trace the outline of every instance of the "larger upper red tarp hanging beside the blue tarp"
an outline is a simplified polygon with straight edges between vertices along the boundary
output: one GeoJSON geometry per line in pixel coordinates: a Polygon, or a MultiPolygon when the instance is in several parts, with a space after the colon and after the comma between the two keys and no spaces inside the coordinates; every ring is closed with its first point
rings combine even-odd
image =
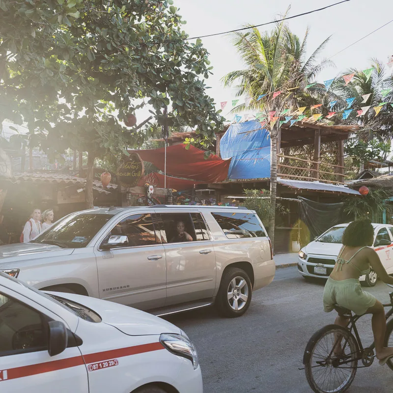
{"type": "MultiPolygon", "coordinates": [[[[159,149],[129,150],[140,155],[143,161],[154,164],[164,172],[164,147],[159,149]]],[[[224,181],[228,176],[230,160],[222,160],[215,154],[207,160],[204,151],[183,143],[167,147],[167,174],[195,179],[205,183],[224,181]]]]}

